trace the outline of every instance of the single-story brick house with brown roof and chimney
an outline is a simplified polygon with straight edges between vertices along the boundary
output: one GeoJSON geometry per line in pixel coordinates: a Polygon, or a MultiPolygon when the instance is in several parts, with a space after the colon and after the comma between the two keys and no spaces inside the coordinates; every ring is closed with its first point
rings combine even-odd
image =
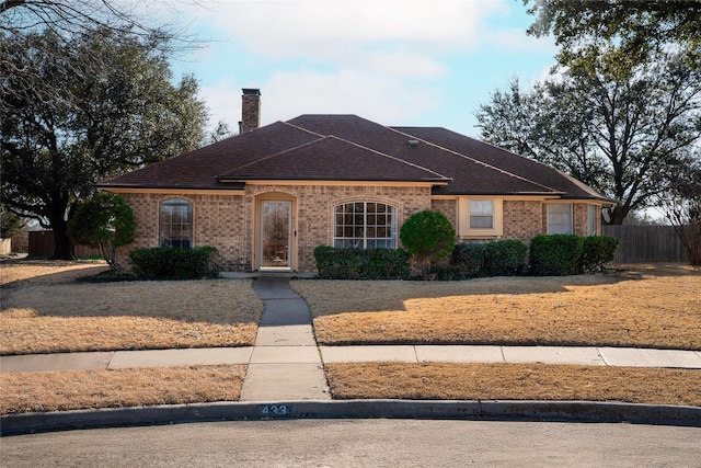
{"type": "MultiPolygon", "coordinates": [[[[241,133],[99,184],[137,219],[140,247],[219,251],[222,271],[314,272],[318,246],[400,247],[411,215],[438,210],[457,240],[600,233],[612,201],[540,162],[439,127],[300,115],[260,127],[244,89],[241,133]]],[[[126,251],[120,252],[124,255],[126,251]]]]}

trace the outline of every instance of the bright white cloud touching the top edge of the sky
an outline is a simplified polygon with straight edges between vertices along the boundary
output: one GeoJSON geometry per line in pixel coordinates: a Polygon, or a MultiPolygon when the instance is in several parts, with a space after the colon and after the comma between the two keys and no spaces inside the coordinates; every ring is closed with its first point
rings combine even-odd
{"type": "MultiPolygon", "coordinates": [[[[476,46],[480,21],[502,1],[205,2],[218,30],[269,58],[337,62],[354,50],[404,44],[426,52],[476,46]]],[[[203,13],[199,13],[200,16],[203,13]]]]}

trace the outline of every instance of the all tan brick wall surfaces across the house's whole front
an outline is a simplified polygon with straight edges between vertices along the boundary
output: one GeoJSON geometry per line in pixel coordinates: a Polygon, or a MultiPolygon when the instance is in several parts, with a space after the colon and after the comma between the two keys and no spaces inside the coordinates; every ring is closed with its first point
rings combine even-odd
{"type": "MultiPolygon", "coordinates": [[[[279,197],[294,203],[297,231],[297,270],[315,271],[314,249],[333,242],[334,206],[348,202],[380,202],[397,207],[398,236],[402,224],[414,213],[434,209],[457,226],[457,202],[430,199],[429,187],[350,186],[350,185],[249,185],[245,195],[124,194],[134,209],[137,226],[135,242],[119,249],[118,260],[127,265],[127,252],[134,248],[158,247],[159,205],[168,198],[184,198],[193,204],[193,243],[218,249],[223,271],[250,271],[255,249],[255,210],[261,196],[279,197]]],[[[541,202],[504,201],[504,239],[526,243],[547,232],[545,207],[541,202]]],[[[597,212],[598,213],[598,212],[597,212]]],[[[574,205],[575,233],[587,232],[587,208],[574,205]]],[[[599,228],[597,224],[597,228],[599,228]]],[[[127,265],[128,266],[128,265],[127,265]]]]}

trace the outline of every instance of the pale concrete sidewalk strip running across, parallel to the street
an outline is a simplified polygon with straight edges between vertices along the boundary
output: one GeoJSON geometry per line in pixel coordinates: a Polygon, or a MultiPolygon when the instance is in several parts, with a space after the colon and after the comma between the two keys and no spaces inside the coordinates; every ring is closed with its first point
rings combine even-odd
{"type": "Polygon", "coordinates": [[[215,364],[542,363],[701,369],[701,352],[632,347],[558,346],[319,346],[258,345],[186,350],[111,351],[0,356],[0,372],[88,370],[215,364]]]}

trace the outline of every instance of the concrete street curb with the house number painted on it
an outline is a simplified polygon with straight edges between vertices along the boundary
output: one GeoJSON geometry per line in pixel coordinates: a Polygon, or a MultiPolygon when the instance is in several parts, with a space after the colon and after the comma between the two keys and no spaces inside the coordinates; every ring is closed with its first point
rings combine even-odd
{"type": "Polygon", "coordinates": [[[278,419],[455,419],[701,427],[701,407],[597,401],[342,400],[220,402],[9,414],[0,435],[79,429],[278,419]]]}

